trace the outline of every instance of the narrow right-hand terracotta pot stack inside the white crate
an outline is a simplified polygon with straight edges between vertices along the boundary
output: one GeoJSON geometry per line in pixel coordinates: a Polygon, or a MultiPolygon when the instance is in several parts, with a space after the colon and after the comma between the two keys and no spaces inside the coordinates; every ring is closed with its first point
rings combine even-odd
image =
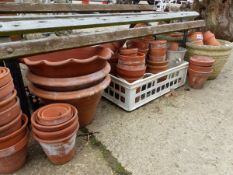
{"type": "Polygon", "coordinates": [[[166,52],[166,40],[154,40],[150,42],[149,57],[147,59],[147,72],[157,74],[168,69],[166,52]]]}

